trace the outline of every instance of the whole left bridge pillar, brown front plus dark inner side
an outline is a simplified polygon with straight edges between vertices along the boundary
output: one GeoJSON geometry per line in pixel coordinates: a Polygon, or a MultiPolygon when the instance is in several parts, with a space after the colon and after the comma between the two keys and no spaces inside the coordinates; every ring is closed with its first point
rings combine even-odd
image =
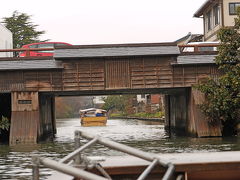
{"type": "Polygon", "coordinates": [[[37,143],[53,137],[54,97],[38,92],[12,92],[10,144],[37,143]]]}

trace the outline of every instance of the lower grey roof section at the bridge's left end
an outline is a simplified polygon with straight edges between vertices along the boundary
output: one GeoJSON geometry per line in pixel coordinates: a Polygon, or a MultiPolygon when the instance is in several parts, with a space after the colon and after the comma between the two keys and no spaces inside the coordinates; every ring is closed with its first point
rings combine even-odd
{"type": "Polygon", "coordinates": [[[59,62],[54,60],[18,60],[18,61],[0,61],[0,71],[6,70],[47,70],[62,69],[59,62]]]}

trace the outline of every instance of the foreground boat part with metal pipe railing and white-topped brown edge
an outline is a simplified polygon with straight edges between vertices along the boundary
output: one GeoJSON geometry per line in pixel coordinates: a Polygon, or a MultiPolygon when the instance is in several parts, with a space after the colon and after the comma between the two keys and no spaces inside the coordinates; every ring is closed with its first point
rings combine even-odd
{"type": "Polygon", "coordinates": [[[208,152],[152,154],[132,147],[93,136],[83,131],[75,132],[78,148],[60,161],[35,158],[33,179],[39,180],[39,166],[44,165],[58,172],[49,179],[88,180],[239,180],[240,152],[208,152]],[[80,136],[90,139],[79,147],[80,136]],[[89,158],[81,156],[86,148],[98,143],[131,156],[89,158]],[[71,160],[74,163],[70,165],[71,160]],[[69,163],[70,162],[70,163],[69,163]],[[66,164],[67,163],[67,164],[66,164]],[[62,173],[67,174],[63,175],[62,173]],[[61,178],[59,178],[61,177],[61,178]]]}

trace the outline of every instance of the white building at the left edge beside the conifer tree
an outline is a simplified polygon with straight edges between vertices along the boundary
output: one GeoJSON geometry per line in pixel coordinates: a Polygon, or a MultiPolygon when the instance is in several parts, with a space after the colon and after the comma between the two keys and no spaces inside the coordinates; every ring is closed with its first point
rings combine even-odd
{"type": "MultiPolygon", "coordinates": [[[[0,49],[12,49],[13,38],[12,33],[0,23],[0,49]]],[[[0,52],[0,57],[12,57],[11,52],[0,52]]]]}

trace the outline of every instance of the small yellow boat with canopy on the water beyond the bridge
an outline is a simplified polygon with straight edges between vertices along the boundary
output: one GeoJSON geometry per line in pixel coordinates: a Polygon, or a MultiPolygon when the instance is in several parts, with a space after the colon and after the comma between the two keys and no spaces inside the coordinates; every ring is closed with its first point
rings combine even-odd
{"type": "Polygon", "coordinates": [[[103,109],[89,108],[79,111],[82,126],[106,126],[107,111],[103,109]]]}

